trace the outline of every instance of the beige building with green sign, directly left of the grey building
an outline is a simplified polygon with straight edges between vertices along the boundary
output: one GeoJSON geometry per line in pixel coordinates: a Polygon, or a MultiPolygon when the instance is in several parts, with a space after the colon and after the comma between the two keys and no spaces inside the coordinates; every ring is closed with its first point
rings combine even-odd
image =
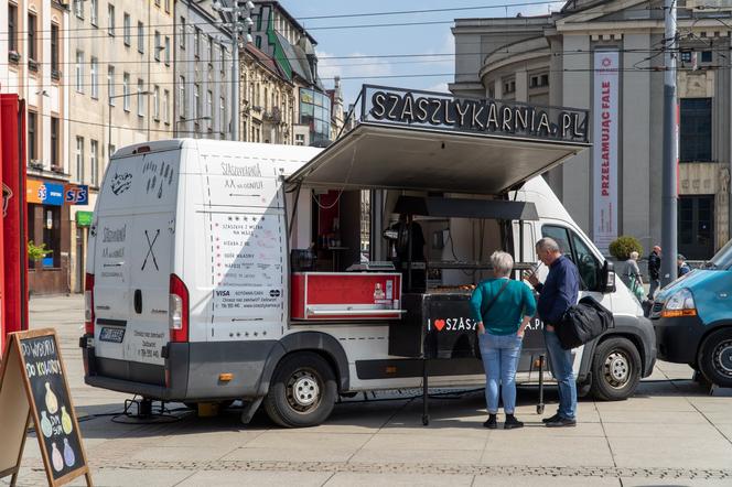
{"type": "Polygon", "coordinates": [[[173,133],[173,0],[72,0],[71,181],[88,205],[69,206],[69,290],[82,292],[89,212],[111,154],[173,133]]]}

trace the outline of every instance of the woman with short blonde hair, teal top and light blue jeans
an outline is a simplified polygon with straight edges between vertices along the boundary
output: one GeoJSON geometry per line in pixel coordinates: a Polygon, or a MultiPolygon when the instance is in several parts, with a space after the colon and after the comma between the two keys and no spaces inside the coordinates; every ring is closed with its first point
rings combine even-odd
{"type": "Polygon", "coordinates": [[[485,369],[485,401],[488,420],[485,428],[498,428],[498,386],[506,413],[505,430],[524,426],[514,415],[516,408],[516,367],[521,351],[524,329],[536,313],[536,301],[528,285],[508,278],[514,259],[502,251],[491,256],[493,279],[481,282],[471,297],[477,322],[478,343],[485,369]]]}

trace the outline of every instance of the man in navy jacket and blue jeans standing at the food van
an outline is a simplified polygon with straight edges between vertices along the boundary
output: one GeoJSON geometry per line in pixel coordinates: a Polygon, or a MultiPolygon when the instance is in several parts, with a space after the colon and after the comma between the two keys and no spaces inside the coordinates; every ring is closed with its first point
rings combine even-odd
{"type": "Polygon", "coordinates": [[[580,291],[580,273],[577,266],[564,257],[557,241],[542,238],[536,244],[539,260],[549,268],[549,275],[543,284],[536,273],[527,280],[539,292],[537,311],[543,322],[543,339],[551,370],[559,385],[559,409],[557,414],[547,418],[548,428],[568,428],[577,425],[577,382],[572,372],[572,353],[564,350],[559,343],[555,327],[561,323],[562,315],[577,304],[580,291]]]}

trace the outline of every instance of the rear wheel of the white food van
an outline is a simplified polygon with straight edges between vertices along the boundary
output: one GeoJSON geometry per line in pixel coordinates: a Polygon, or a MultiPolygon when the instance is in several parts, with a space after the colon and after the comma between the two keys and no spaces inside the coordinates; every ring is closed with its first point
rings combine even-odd
{"type": "Polygon", "coordinates": [[[277,366],[265,410],[280,426],[315,426],[331,415],[337,394],[330,364],[315,353],[302,351],[277,366]]]}

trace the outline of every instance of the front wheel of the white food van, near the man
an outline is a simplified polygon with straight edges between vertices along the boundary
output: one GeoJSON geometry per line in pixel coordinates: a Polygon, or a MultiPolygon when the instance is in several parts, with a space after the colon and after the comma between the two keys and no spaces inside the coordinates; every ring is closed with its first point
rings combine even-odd
{"type": "Polygon", "coordinates": [[[603,401],[622,401],[640,381],[640,354],[633,342],[611,337],[598,345],[592,358],[592,396],[603,401]]]}

